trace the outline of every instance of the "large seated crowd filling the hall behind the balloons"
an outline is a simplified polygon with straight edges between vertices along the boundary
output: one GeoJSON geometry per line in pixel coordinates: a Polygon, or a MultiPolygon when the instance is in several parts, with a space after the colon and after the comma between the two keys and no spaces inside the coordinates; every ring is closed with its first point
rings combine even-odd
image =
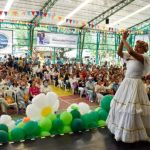
{"type": "MultiPolygon", "coordinates": [[[[25,109],[32,98],[40,93],[51,91],[50,84],[72,90],[90,102],[100,102],[104,95],[114,95],[124,78],[125,65],[103,66],[85,64],[47,65],[31,58],[5,56],[0,65],[1,98],[5,91],[13,91],[19,109],[25,109]]],[[[150,80],[143,78],[150,98],[150,80]]],[[[5,108],[5,107],[4,107],[5,108]]]]}

